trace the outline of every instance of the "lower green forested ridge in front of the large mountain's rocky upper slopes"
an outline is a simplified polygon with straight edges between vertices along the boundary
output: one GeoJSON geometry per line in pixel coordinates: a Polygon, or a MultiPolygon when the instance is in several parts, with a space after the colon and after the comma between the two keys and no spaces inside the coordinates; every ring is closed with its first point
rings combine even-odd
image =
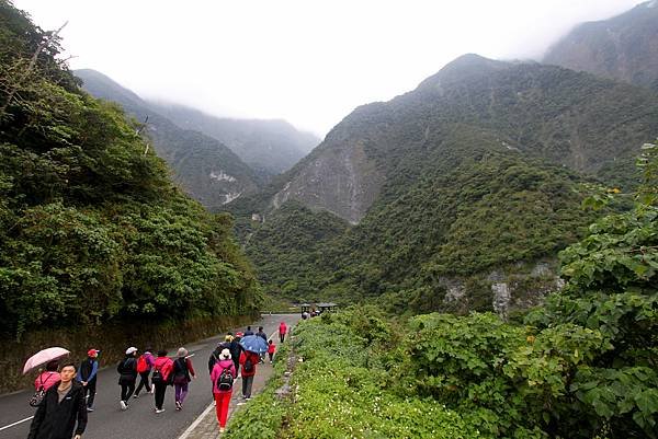
{"type": "MultiPolygon", "coordinates": [[[[404,309],[445,311],[442,279],[473,284],[481,273],[554,257],[594,218],[579,209],[586,180],[507,151],[486,132],[455,127],[441,151],[416,182],[387,186],[358,226],[295,203],[250,224],[241,234],[259,279],[291,300],[394,294],[404,309]],[[419,294],[427,300],[415,307],[419,294]]],[[[485,300],[468,289],[472,310],[491,309],[490,284],[485,300]]]]}

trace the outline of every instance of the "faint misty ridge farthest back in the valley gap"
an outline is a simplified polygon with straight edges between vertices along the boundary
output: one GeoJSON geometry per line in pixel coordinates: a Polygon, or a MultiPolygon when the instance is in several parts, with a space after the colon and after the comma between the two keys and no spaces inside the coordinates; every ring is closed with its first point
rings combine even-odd
{"type": "Polygon", "coordinates": [[[219,140],[262,177],[287,171],[320,142],[285,120],[222,118],[155,101],[149,105],[179,127],[219,140]]]}

